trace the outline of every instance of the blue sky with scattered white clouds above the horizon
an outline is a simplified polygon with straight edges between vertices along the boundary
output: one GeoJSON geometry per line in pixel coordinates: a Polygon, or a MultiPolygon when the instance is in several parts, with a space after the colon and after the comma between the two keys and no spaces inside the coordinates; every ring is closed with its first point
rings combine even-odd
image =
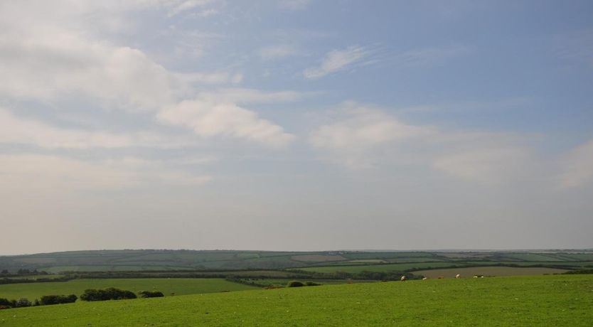
{"type": "Polygon", "coordinates": [[[0,2],[0,254],[593,247],[592,1],[0,2]]]}

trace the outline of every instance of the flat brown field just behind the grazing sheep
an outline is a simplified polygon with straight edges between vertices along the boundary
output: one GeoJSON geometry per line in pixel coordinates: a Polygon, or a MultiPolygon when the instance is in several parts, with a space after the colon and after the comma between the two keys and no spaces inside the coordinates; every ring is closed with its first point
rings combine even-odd
{"type": "Polygon", "coordinates": [[[420,270],[412,272],[416,275],[424,275],[428,278],[454,278],[456,274],[461,274],[461,277],[473,277],[475,275],[484,276],[530,276],[543,274],[561,274],[567,272],[565,269],[555,268],[539,268],[539,267],[466,267],[466,268],[449,268],[449,269],[432,269],[420,270]]]}

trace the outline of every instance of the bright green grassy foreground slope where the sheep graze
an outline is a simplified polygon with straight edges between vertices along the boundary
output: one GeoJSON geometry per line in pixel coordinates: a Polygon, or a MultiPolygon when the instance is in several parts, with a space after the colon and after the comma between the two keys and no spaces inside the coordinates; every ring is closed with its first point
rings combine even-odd
{"type": "Polygon", "coordinates": [[[343,284],[0,311],[0,326],[591,326],[593,276],[343,284]]]}

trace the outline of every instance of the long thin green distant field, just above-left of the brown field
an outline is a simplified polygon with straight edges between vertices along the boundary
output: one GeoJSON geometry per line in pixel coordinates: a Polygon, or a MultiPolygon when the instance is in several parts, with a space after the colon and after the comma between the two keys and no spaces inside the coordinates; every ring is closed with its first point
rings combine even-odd
{"type": "Polygon", "coordinates": [[[407,269],[423,269],[423,268],[438,268],[438,267],[454,267],[462,266],[456,262],[417,262],[417,263],[402,263],[402,264],[357,264],[353,266],[321,266],[321,267],[306,267],[299,268],[305,272],[403,272],[407,269]]]}

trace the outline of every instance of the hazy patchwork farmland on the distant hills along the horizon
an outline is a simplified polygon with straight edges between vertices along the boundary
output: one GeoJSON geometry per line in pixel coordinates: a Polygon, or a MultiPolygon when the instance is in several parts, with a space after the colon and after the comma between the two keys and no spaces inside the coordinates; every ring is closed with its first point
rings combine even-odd
{"type": "Polygon", "coordinates": [[[183,270],[232,271],[246,269],[302,269],[332,272],[359,271],[348,266],[365,266],[365,270],[408,270],[427,267],[460,267],[476,265],[521,265],[541,267],[593,267],[593,252],[581,251],[463,251],[463,252],[271,252],[230,250],[100,250],[55,252],[18,256],[0,256],[0,270],[37,269],[60,272],[175,272],[183,270]],[[400,265],[396,265],[400,264],[400,265]],[[385,265],[385,267],[380,267],[385,265]],[[318,269],[319,268],[319,269],[318,269]]]}

